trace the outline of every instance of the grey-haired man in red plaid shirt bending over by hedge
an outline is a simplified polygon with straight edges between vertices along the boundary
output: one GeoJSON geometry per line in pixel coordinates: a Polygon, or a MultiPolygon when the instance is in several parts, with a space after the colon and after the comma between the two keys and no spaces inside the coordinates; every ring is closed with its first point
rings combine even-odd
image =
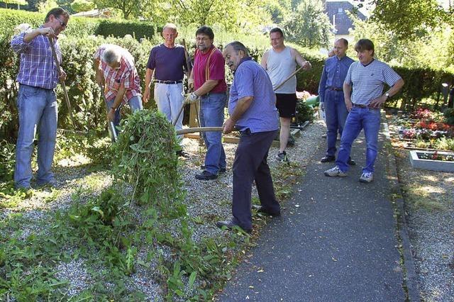
{"type": "Polygon", "coordinates": [[[107,118],[114,121],[114,125],[119,125],[123,104],[128,103],[133,112],[143,108],[134,58],[128,50],[110,44],[101,45],[93,58],[96,82],[104,86],[109,108],[107,118]]]}

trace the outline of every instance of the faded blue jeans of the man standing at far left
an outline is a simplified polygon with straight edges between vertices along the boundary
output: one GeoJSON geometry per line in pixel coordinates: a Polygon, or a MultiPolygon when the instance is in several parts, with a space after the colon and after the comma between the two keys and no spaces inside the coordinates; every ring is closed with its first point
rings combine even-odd
{"type": "Polygon", "coordinates": [[[53,89],[19,85],[17,97],[19,133],[16,143],[16,187],[30,187],[33,139],[38,131],[38,185],[54,181],[52,162],[57,137],[57,98],[53,89]]]}

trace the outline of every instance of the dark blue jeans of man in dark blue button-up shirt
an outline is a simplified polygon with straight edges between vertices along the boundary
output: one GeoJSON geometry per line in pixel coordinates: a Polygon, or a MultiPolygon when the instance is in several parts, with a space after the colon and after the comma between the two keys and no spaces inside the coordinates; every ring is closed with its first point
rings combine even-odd
{"type": "Polygon", "coordinates": [[[348,110],[343,99],[343,91],[325,91],[326,116],[326,156],[336,155],[336,140],[338,131],[342,136],[343,126],[347,120],[348,110]]]}

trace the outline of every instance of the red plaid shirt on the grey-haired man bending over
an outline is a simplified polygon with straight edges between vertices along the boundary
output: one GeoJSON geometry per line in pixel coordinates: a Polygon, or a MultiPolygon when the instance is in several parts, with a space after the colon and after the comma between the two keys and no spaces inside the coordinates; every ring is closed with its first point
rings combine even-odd
{"type": "Polygon", "coordinates": [[[104,94],[106,95],[106,100],[111,101],[111,99],[115,99],[121,84],[124,84],[126,88],[125,95],[123,96],[123,104],[127,103],[133,96],[141,96],[140,79],[137,69],[134,66],[133,56],[128,50],[121,48],[123,53],[121,54],[120,67],[112,69],[102,60],[104,50],[106,50],[107,46],[109,45],[101,45],[93,56],[95,60],[100,61],[101,69],[104,73],[104,79],[106,80],[104,94]]]}

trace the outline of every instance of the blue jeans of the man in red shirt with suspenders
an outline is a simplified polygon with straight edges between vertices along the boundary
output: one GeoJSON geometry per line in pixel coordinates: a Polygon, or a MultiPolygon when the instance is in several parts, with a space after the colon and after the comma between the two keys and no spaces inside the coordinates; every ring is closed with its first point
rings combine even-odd
{"type": "MultiPolygon", "coordinates": [[[[224,123],[226,94],[206,94],[200,98],[200,125],[202,127],[221,127],[224,123]]],[[[226,152],[222,145],[222,133],[210,131],[202,133],[206,145],[205,170],[218,174],[226,167],[226,152]]]]}

